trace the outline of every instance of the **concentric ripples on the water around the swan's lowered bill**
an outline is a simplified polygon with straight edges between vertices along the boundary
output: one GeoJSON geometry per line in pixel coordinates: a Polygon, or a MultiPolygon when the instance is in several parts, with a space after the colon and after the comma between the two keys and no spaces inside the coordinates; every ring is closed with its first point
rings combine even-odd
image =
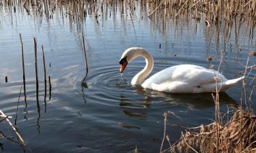
{"type": "Polygon", "coordinates": [[[103,105],[132,108],[147,107],[147,93],[143,88],[131,86],[130,80],[139,67],[129,67],[125,74],[119,73],[119,67],[106,65],[97,67],[87,78],[87,99],[103,105]]]}

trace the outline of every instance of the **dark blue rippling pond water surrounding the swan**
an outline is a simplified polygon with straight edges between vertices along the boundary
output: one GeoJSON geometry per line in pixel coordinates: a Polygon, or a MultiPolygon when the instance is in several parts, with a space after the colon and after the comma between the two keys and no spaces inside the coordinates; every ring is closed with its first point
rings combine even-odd
{"type": "MultiPolygon", "coordinates": [[[[224,35],[223,31],[220,30],[220,35],[224,35]]],[[[232,31],[236,31],[235,27],[232,31]]],[[[136,11],[99,16],[97,21],[91,14],[78,24],[61,16],[58,10],[49,19],[33,13],[10,12],[8,7],[2,7],[0,108],[13,117],[12,122],[17,112],[16,124],[28,144],[22,148],[8,139],[0,139],[2,152],[134,152],[136,146],[140,152],[159,152],[164,112],[175,114],[168,118],[171,124],[208,124],[215,118],[212,95],[169,94],[131,86],[132,77],[143,69],[145,62],[138,58],[120,74],[122,52],[132,46],[145,48],[154,57],[152,73],[156,73],[180,64],[217,67],[223,50],[221,71],[227,78],[236,78],[246,65],[248,52],[255,50],[255,39],[249,37],[246,27],[240,29],[239,39],[232,31],[229,42],[224,43],[222,37],[211,38],[214,25],[206,27],[203,21],[193,19],[166,22],[164,29],[159,22],[141,18],[140,11],[136,11]],[[19,99],[23,84],[19,33],[25,51],[26,101],[23,88],[19,99]],[[89,69],[83,83],[86,72],[82,33],[89,69]],[[38,42],[38,101],[33,37],[38,42]],[[51,77],[51,92],[47,83],[46,103],[41,45],[47,79],[51,77]],[[212,56],[212,63],[206,60],[207,56],[212,56]]],[[[249,65],[253,63],[255,58],[250,59],[249,65]]],[[[248,76],[248,81],[253,75],[255,72],[248,76]]],[[[238,84],[221,94],[223,112],[238,107],[241,88],[238,84]]],[[[256,106],[253,104],[253,107],[256,106]]],[[[13,136],[8,124],[0,126],[2,133],[13,136]]],[[[181,131],[184,129],[167,127],[172,143],[179,139],[181,131]]]]}

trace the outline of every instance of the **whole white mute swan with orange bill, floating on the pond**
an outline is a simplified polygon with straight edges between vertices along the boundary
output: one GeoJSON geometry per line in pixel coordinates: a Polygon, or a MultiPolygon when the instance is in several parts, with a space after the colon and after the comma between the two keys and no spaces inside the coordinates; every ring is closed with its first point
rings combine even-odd
{"type": "Polygon", "coordinates": [[[176,65],[168,67],[145,80],[152,72],[154,60],[143,48],[128,48],[124,51],[119,61],[120,73],[124,71],[128,63],[139,56],[145,58],[146,65],[142,71],[132,78],[131,84],[141,85],[143,88],[173,93],[215,92],[216,80],[214,78],[218,76],[217,86],[223,92],[242,80],[242,77],[227,80],[221,73],[197,65],[176,65]]]}

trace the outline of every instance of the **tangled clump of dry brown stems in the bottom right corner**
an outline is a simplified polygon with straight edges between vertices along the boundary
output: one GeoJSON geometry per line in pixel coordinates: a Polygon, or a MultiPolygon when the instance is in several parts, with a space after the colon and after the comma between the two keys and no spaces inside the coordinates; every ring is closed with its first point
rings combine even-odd
{"type": "Polygon", "coordinates": [[[255,123],[256,116],[253,116],[252,112],[241,112],[239,109],[225,125],[214,122],[186,131],[173,148],[176,148],[177,152],[216,152],[218,143],[218,152],[253,152],[256,150],[255,123]],[[217,131],[219,139],[216,139],[217,131]]]}

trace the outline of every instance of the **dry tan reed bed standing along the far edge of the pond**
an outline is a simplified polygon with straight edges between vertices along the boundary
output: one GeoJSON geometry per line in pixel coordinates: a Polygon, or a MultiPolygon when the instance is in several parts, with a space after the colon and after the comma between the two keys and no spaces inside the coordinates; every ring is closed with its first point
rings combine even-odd
{"type": "Polygon", "coordinates": [[[130,14],[137,9],[140,10],[142,18],[164,21],[186,14],[197,20],[205,18],[208,25],[223,21],[231,24],[237,17],[240,20],[249,18],[251,24],[255,24],[256,18],[256,2],[253,0],[1,0],[0,5],[10,7],[10,10],[25,10],[27,14],[33,12],[37,16],[45,15],[46,18],[53,18],[55,10],[58,10],[64,12],[62,16],[77,22],[83,21],[87,14],[94,14],[95,18],[99,18],[100,14],[102,18],[107,18],[117,11],[120,14],[130,14]]]}

